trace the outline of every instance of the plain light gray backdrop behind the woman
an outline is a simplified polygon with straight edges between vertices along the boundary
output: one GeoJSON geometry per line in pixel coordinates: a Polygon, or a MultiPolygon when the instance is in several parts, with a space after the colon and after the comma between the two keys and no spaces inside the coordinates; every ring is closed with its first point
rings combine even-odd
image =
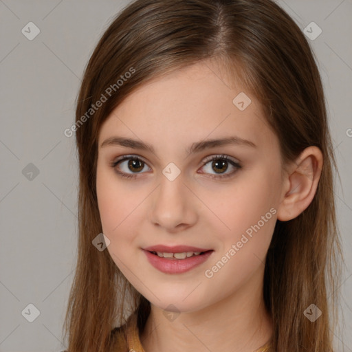
{"type": "MultiPolygon", "coordinates": [[[[61,328],[76,259],[77,165],[74,137],[63,131],[74,122],[89,55],[126,3],[0,0],[0,351],[65,347],[61,328]],[[21,32],[30,21],[41,31],[32,41],[21,32]],[[21,314],[30,303],[40,311],[32,323],[21,314]]],[[[309,41],[325,85],[340,169],[336,197],[346,256],[340,287],[345,327],[336,344],[338,351],[352,351],[352,1],[278,3],[302,30],[311,21],[322,29],[309,41]]]]}

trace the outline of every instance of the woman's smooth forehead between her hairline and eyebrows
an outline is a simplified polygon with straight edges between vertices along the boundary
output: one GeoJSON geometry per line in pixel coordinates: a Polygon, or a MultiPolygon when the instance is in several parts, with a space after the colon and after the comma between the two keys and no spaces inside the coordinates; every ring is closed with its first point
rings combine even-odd
{"type": "Polygon", "coordinates": [[[238,135],[261,144],[272,137],[261,104],[213,62],[155,78],[116,107],[100,129],[102,140],[140,138],[157,148],[238,135]]]}

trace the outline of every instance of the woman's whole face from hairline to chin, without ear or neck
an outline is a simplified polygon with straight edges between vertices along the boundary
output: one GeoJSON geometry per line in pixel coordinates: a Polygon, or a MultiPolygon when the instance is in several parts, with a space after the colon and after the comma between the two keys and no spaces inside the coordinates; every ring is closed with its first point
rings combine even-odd
{"type": "Polygon", "coordinates": [[[96,186],[107,250],[152,305],[195,311],[260,285],[281,154],[259,102],[216,63],[157,78],[109,115],[96,186]]]}

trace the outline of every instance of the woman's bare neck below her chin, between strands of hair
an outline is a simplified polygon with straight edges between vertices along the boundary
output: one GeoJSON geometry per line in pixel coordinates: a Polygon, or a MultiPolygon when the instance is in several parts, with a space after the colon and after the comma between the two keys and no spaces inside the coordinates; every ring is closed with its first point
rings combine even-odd
{"type": "Polygon", "coordinates": [[[170,351],[170,347],[174,352],[256,351],[272,337],[272,319],[265,309],[262,288],[263,282],[258,285],[254,279],[232,296],[173,318],[151,305],[140,334],[144,351],[170,351]]]}

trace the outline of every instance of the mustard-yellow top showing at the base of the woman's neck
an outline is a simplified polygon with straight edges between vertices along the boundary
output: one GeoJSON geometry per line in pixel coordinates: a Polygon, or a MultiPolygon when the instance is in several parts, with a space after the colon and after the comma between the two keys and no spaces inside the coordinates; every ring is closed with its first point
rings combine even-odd
{"type": "MultiPolygon", "coordinates": [[[[140,342],[137,328],[137,315],[132,314],[126,325],[112,331],[114,337],[114,351],[116,352],[145,352],[140,342]]],[[[254,352],[271,352],[271,344],[267,343],[254,352]]]]}

